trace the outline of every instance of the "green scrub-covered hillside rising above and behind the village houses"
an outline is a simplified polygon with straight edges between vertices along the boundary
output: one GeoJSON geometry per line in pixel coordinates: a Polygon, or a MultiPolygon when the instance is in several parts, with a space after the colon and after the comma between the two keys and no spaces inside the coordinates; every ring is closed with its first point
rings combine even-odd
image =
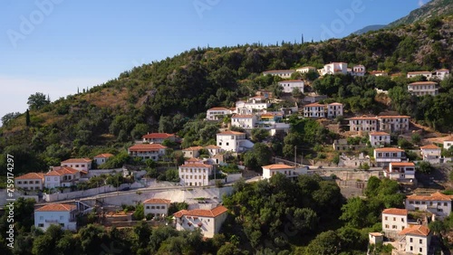
{"type": "MultiPolygon", "coordinates": [[[[188,119],[203,118],[203,113],[215,106],[232,107],[237,99],[252,95],[255,90],[277,91],[276,80],[261,74],[266,70],[304,65],[321,68],[331,61],[345,61],[350,66],[363,64],[368,71],[390,73],[451,70],[452,28],[453,19],[447,17],[327,42],[192,49],[124,71],[117,79],[91,90],[31,109],[28,127],[25,114],[12,115],[0,128],[0,152],[2,156],[14,153],[21,164],[17,171],[26,172],[59,164],[70,156],[123,151],[130,141],[150,131],[200,136],[197,131],[181,130],[188,119]]],[[[390,108],[410,114],[424,125],[444,132],[452,130],[453,120],[448,116],[453,114],[439,110],[453,109],[448,93],[422,101],[404,92],[409,82],[406,79],[326,80],[323,86],[335,86],[328,94],[344,103],[350,114],[376,114],[390,108]],[[394,86],[403,95],[396,94],[398,100],[390,107],[374,99],[374,87],[389,90],[394,86]],[[431,112],[412,109],[419,104],[431,112]]]]}

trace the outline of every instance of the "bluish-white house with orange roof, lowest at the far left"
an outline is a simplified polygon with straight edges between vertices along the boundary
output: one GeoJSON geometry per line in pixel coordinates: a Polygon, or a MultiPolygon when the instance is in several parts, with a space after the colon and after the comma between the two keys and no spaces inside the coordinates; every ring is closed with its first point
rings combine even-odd
{"type": "Polygon", "coordinates": [[[34,210],[34,226],[45,231],[51,225],[60,225],[63,230],[75,231],[77,206],[67,203],[50,203],[34,210]]]}

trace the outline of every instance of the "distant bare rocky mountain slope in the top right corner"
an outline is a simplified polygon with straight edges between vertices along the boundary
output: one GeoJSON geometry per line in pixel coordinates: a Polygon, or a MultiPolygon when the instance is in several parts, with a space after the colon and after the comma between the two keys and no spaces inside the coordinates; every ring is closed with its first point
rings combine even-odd
{"type": "Polygon", "coordinates": [[[427,4],[413,10],[407,16],[404,16],[389,24],[389,27],[400,24],[414,24],[425,21],[429,18],[453,14],[453,1],[451,0],[431,0],[427,4]]]}

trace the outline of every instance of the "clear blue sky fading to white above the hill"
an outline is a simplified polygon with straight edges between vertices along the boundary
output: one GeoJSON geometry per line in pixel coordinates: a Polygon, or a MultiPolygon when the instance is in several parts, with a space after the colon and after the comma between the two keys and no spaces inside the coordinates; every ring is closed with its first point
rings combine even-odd
{"type": "Polygon", "coordinates": [[[2,0],[0,118],[198,46],[342,38],[427,0],[2,0]]]}

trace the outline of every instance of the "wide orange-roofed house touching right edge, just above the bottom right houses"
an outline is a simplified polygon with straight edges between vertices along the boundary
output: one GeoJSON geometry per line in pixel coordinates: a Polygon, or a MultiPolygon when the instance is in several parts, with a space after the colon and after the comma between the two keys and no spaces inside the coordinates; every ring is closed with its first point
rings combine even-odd
{"type": "Polygon", "coordinates": [[[412,194],[406,198],[406,209],[409,211],[427,211],[440,218],[451,213],[451,196],[441,194],[412,194]]]}

